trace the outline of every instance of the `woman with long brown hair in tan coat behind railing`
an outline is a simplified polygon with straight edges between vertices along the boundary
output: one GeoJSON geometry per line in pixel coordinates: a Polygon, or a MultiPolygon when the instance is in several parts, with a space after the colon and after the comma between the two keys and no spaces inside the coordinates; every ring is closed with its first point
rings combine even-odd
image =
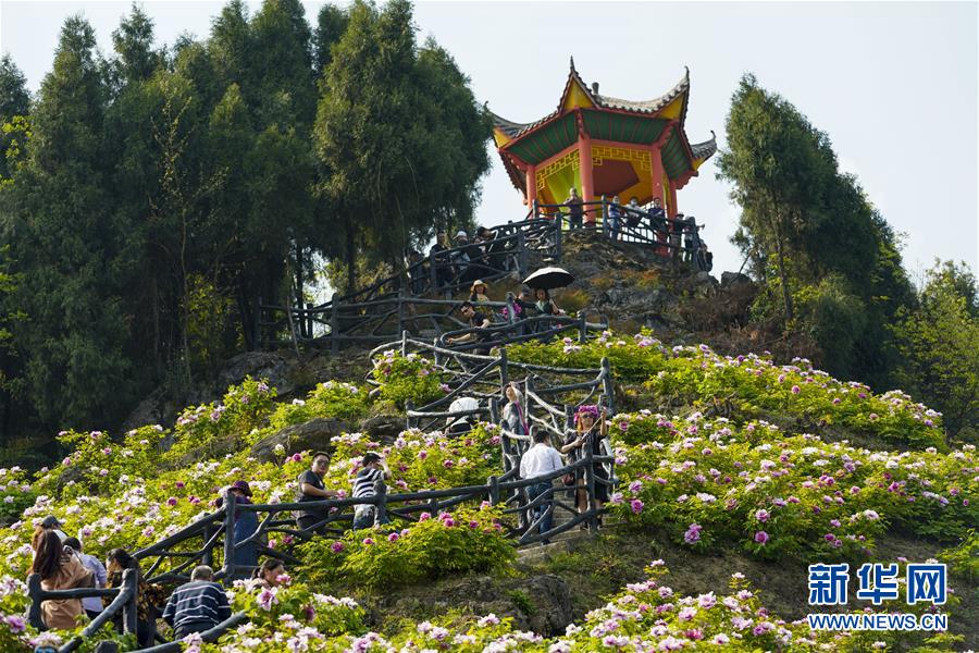
{"type": "MultiPolygon", "coordinates": [[[[53,530],[45,531],[40,537],[30,572],[40,575],[41,589],[49,592],[94,587],[95,574],[71,549],[64,547],[53,530]]],[[[52,630],[72,630],[83,614],[82,602],[77,599],[48,599],[41,603],[41,619],[52,630]]]]}

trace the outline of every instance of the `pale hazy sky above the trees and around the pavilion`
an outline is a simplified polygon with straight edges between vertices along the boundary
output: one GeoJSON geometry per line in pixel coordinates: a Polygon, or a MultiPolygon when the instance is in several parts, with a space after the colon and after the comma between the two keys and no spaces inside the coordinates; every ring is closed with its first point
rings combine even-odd
{"type": "MultiPolygon", "coordinates": [[[[206,37],[222,3],[146,1],[160,42],[206,37]]],[[[315,22],[322,2],[305,2],[315,22]]],[[[255,11],[259,3],[250,3],[255,11]]],[[[103,52],[129,2],[0,0],[0,51],[36,90],[63,20],[82,13],[103,52]]],[[[419,41],[432,36],[469,75],[480,102],[515,122],[553,111],[574,58],[603,95],[645,100],[690,67],[686,133],[723,148],[731,95],[745,73],[826,132],[843,171],[903,234],[919,282],[935,258],[979,274],[979,3],[972,2],[433,2],[416,5],[419,41]]],[[[728,238],[739,209],[714,160],[680,190],[681,211],[706,223],[715,274],[743,258],[728,238]]],[[[480,224],[525,213],[496,152],[480,224]]]]}

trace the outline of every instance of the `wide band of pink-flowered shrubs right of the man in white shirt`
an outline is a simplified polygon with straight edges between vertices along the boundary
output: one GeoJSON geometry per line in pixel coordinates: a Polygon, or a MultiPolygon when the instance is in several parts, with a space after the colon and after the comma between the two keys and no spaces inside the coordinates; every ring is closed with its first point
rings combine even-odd
{"type": "Polygon", "coordinates": [[[724,418],[614,418],[611,509],[695,549],[741,542],[760,557],[867,554],[888,523],[954,540],[979,522],[975,447],[869,452],[724,418]]]}

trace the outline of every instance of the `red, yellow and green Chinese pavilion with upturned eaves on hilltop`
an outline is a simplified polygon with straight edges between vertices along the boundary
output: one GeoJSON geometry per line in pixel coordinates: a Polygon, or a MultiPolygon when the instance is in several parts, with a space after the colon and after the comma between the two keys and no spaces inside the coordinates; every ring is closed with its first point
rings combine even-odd
{"type": "Polygon", "coordinates": [[[669,215],[677,190],[717,151],[711,137],[691,144],[684,131],[690,71],[655,100],[620,100],[588,87],[574,70],[557,110],[519,124],[493,114],[493,135],[504,167],[528,206],[561,204],[574,186],[585,201],[619,195],[645,205],[658,197],[669,215]]]}

